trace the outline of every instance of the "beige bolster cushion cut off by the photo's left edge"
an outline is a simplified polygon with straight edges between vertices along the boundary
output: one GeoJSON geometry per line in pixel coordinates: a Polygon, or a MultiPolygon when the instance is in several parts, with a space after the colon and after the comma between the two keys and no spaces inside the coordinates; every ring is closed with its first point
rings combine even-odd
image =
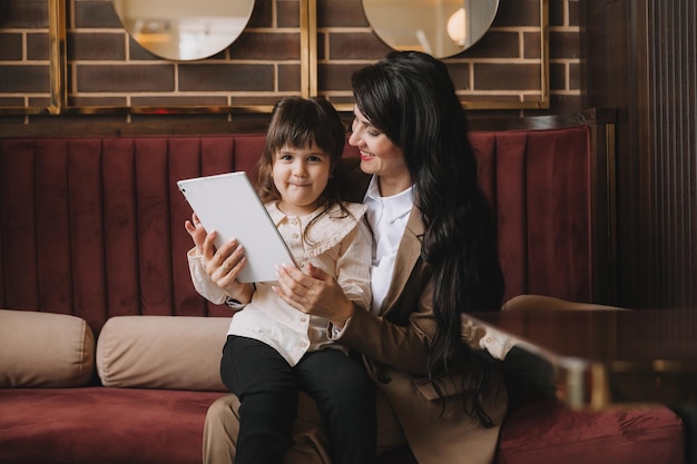
{"type": "Polygon", "coordinates": [[[76,316],[0,309],[0,387],[73,387],[95,373],[95,335],[76,316]]]}

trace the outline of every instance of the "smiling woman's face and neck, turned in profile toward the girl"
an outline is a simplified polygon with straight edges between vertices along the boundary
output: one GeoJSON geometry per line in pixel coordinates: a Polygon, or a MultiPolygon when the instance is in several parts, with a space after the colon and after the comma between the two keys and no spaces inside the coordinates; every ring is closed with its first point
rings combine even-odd
{"type": "Polygon", "coordinates": [[[411,175],[404,161],[404,151],[373,127],[357,107],[348,144],[361,151],[361,170],[379,177],[380,194],[389,197],[411,186],[411,175]]]}

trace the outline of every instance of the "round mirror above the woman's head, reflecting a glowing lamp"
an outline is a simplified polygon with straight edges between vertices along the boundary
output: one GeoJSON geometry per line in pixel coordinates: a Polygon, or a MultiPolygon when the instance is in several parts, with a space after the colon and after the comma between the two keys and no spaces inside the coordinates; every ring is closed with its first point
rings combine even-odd
{"type": "Polygon", "coordinates": [[[458,55],[489,30],[499,0],[363,0],[375,33],[395,50],[458,55]]]}

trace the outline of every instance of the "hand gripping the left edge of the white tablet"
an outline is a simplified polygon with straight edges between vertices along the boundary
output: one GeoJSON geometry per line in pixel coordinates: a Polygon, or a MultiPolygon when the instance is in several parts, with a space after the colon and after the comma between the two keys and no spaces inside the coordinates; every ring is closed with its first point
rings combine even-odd
{"type": "Polygon", "coordinates": [[[247,257],[242,245],[233,238],[229,243],[215,249],[215,230],[207,234],[200,245],[204,269],[210,279],[230,298],[246,304],[252,300],[254,286],[237,280],[239,273],[247,264],[247,257]]]}

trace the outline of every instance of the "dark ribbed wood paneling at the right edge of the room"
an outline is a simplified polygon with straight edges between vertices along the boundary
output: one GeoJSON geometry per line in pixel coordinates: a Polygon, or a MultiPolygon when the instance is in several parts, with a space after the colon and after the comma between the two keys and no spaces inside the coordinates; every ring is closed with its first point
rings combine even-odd
{"type": "Polygon", "coordinates": [[[694,0],[586,0],[586,106],[618,108],[619,303],[697,305],[694,0]]]}

